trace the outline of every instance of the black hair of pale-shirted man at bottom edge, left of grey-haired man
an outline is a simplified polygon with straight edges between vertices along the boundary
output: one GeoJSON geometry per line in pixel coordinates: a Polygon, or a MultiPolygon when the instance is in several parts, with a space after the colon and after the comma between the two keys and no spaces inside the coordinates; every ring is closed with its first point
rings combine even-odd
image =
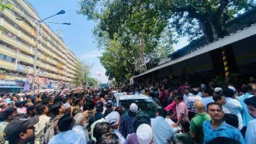
{"type": "Polygon", "coordinates": [[[66,132],[70,130],[72,124],[72,117],[70,113],[67,113],[66,115],[63,115],[60,120],[58,120],[58,129],[60,132],[66,132]]]}

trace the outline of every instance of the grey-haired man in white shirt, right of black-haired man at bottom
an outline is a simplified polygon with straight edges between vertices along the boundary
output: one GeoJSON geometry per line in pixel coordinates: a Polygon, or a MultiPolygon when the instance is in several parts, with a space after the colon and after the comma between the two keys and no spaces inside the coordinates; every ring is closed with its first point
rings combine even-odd
{"type": "Polygon", "coordinates": [[[88,126],[88,123],[85,122],[85,117],[83,116],[83,113],[77,113],[74,119],[75,119],[75,125],[72,128],[72,130],[77,132],[77,134],[81,135],[81,137],[83,137],[83,139],[87,143],[90,140],[85,130],[85,128],[88,126]]]}

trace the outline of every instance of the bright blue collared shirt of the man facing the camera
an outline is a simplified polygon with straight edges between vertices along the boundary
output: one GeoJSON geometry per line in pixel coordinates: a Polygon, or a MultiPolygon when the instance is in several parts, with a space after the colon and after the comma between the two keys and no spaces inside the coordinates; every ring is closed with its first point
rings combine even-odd
{"type": "Polygon", "coordinates": [[[221,126],[213,130],[211,126],[211,120],[207,120],[203,122],[203,134],[204,134],[204,142],[208,143],[209,141],[213,140],[215,137],[228,137],[232,139],[236,139],[240,141],[240,143],[245,144],[244,137],[242,136],[241,132],[223,122],[221,126]]]}

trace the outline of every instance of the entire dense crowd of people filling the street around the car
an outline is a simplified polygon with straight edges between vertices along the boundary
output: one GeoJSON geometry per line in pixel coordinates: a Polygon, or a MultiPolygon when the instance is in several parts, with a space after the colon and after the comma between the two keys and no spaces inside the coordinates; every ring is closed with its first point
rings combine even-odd
{"type": "Polygon", "coordinates": [[[115,88],[1,94],[0,143],[253,144],[256,84],[238,89],[188,82],[125,88],[160,105],[153,118],[138,115],[136,103],[114,107],[115,88]]]}

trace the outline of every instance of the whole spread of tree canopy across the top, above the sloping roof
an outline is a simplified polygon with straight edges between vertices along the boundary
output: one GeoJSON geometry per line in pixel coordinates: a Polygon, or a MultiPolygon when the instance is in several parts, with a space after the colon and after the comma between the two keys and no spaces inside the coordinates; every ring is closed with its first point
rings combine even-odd
{"type": "Polygon", "coordinates": [[[94,35],[105,50],[100,62],[117,81],[129,79],[137,65],[167,56],[177,42],[173,30],[191,41],[202,35],[214,41],[227,34],[228,22],[255,9],[254,0],[81,0],[79,5],[77,12],[97,23],[94,35]]]}

